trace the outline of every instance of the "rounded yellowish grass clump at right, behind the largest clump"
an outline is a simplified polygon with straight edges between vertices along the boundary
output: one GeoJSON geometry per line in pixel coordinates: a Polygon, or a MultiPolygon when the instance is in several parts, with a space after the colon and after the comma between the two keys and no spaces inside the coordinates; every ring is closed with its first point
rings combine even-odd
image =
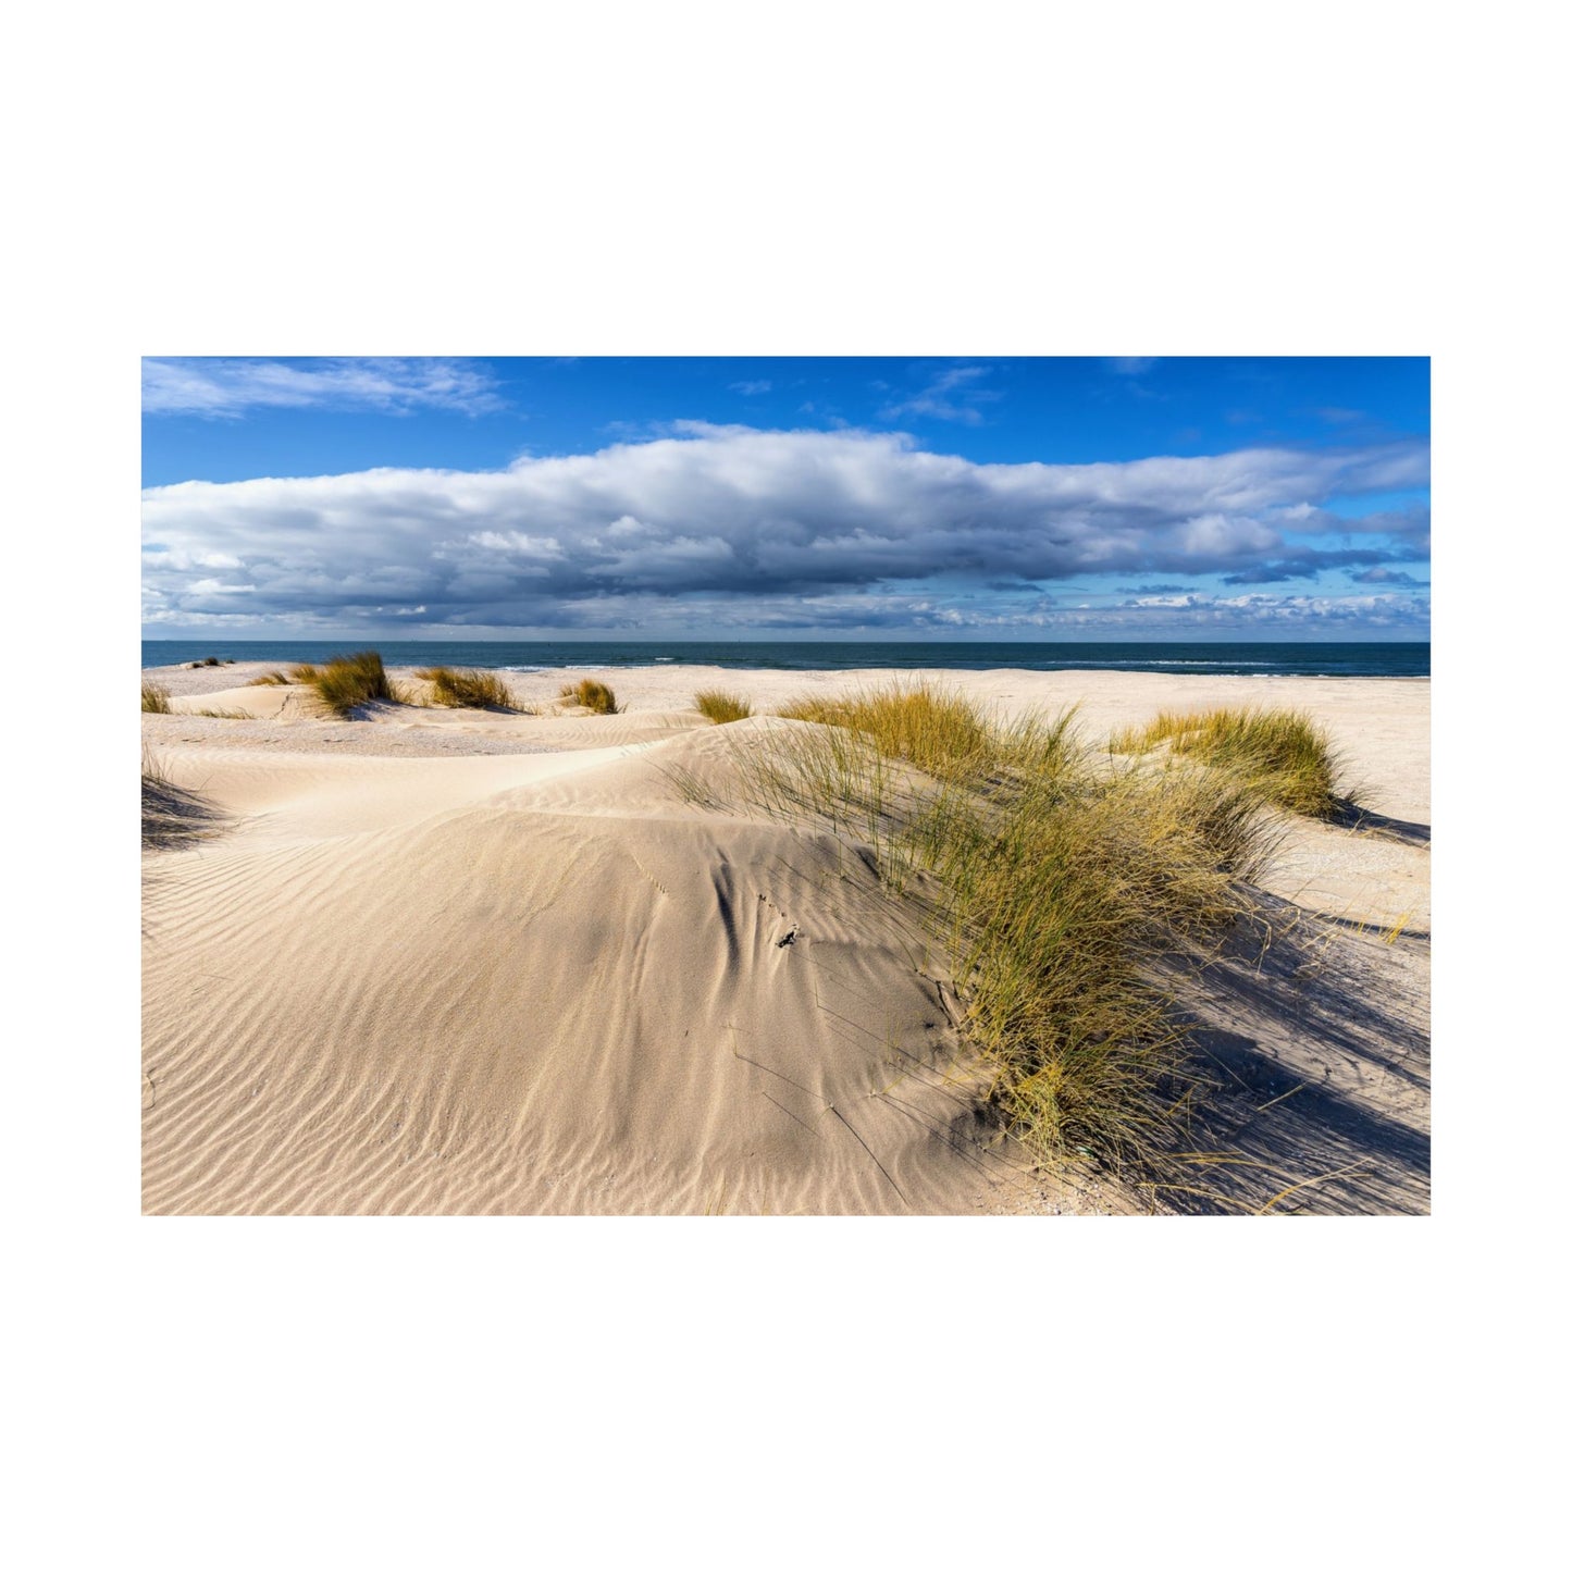
{"type": "Polygon", "coordinates": [[[1160,711],[1108,742],[1115,753],[1149,753],[1168,744],[1174,755],[1229,770],[1278,808],[1330,819],[1347,803],[1339,794],[1342,764],[1324,726],[1303,711],[1223,707],[1174,714],[1160,711]]]}

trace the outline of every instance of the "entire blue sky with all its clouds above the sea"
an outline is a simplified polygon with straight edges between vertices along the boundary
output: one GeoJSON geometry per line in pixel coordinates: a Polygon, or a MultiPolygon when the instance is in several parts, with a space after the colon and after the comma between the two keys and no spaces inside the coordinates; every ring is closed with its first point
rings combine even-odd
{"type": "Polygon", "coordinates": [[[143,362],[146,637],[1427,638],[1429,363],[143,362]]]}

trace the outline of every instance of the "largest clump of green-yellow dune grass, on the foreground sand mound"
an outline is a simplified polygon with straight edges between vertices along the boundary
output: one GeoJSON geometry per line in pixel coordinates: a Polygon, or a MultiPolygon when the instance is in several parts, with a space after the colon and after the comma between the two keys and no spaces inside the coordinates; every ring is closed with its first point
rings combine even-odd
{"type": "Polygon", "coordinates": [[[1174,976],[1251,907],[1261,791],[1110,767],[1069,712],[1000,725],[923,684],[784,714],[817,725],[736,751],[748,805],[830,828],[912,896],[1008,1127],[1044,1159],[1155,1154],[1188,1056],[1174,976]]]}

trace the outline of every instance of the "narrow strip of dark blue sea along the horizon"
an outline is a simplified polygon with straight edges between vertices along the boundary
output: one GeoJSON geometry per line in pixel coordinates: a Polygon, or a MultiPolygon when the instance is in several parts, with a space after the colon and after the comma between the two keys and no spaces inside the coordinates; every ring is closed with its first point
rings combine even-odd
{"type": "Polygon", "coordinates": [[[192,640],[148,638],[141,665],[219,660],[321,662],[374,646],[390,667],[490,667],[498,671],[593,671],[604,667],[695,665],[737,671],[1195,671],[1212,676],[1427,678],[1429,643],[890,643],[817,640],[711,643],[701,640],[192,640]]]}

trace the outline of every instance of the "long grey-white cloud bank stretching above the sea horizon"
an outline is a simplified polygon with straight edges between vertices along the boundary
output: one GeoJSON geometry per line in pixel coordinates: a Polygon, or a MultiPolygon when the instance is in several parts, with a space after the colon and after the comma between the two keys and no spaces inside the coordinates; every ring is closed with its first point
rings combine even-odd
{"type": "MultiPolygon", "coordinates": [[[[986,632],[1072,626],[1080,608],[1058,586],[1086,575],[1168,590],[1176,575],[1248,586],[1357,566],[1404,585],[1379,571],[1427,552],[1424,509],[1327,506],[1424,487],[1423,442],[1050,465],[976,464],[899,434],[673,429],[497,472],[149,489],[145,621],[986,632]]],[[[1137,594],[1121,615],[1151,623],[1154,601],[1195,626],[1338,615],[1327,597],[1256,594],[1137,594]]],[[[1379,621],[1420,605],[1385,594],[1346,610],[1379,621]]]]}

